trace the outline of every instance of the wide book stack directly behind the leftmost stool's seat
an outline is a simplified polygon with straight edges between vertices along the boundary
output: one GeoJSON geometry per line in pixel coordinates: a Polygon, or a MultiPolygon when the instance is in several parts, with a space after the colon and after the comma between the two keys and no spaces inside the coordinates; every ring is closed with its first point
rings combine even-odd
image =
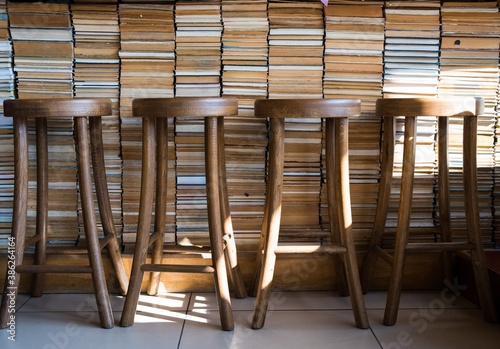
{"type": "MultiPolygon", "coordinates": [[[[9,2],[19,98],[73,96],[73,29],[68,5],[9,2]]],[[[49,120],[49,241],[74,244],[78,234],[76,164],[72,122],[49,120]]],[[[29,128],[34,134],[34,124],[29,128]]],[[[30,152],[28,230],[35,227],[36,160],[30,152]]]]}

